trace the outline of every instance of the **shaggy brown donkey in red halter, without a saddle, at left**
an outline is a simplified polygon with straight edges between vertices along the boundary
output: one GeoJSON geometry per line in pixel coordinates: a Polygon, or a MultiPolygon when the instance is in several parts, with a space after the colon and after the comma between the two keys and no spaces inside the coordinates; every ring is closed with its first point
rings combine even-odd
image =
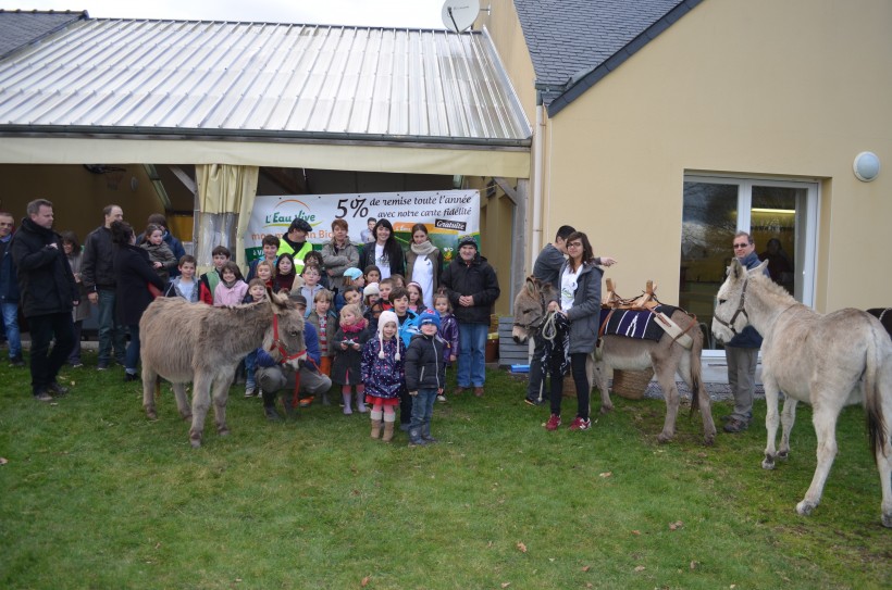
{"type": "Polygon", "coordinates": [[[296,364],[306,355],[303,316],[284,296],[271,301],[212,307],[182,298],[159,298],[139,321],[143,360],[143,406],[156,419],[154,396],[159,377],[173,384],[176,406],[185,419],[191,418],[189,441],[201,445],[205,417],[211,402],[220,435],[226,426],[226,400],[238,363],[263,346],[276,359],[296,364]],[[174,331],[173,327],[176,327],[174,331]],[[193,381],[193,403],[186,398],[186,384],[193,381]]]}

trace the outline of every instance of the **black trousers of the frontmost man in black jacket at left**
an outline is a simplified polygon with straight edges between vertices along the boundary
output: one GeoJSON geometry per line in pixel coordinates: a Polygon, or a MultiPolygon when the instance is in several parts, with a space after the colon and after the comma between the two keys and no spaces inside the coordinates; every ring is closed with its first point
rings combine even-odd
{"type": "Polygon", "coordinates": [[[35,315],[28,317],[30,325],[30,385],[34,394],[46,392],[55,381],[59,369],[65,364],[74,347],[71,312],[35,315]],[[55,344],[50,352],[50,342],[55,344]]]}

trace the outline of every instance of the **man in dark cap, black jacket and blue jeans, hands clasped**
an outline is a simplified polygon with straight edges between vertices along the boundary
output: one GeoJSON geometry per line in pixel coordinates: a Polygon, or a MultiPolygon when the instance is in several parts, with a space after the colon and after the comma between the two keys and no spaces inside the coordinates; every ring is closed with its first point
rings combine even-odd
{"type": "Polygon", "coordinates": [[[458,242],[458,259],[443,272],[441,285],[455,310],[458,322],[458,389],[473,385],[474,396],[483,396],[486,380],[486,336],[490,313],[501,292],[496,272],[478,252],[476,240],[466,236],[458,242]]]}

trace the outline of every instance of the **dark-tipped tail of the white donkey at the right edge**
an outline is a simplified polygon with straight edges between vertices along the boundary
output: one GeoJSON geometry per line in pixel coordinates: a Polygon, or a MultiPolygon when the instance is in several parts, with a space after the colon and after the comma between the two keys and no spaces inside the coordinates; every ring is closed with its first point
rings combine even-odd
{"type": "Polygon", "coordinates": [[[864,371],[864,409],[867,414],[867,436],[870,451],[879,460],[885,449],[885,416],[883,396],[892,394],[892,348],[889,336],[879,328],[870,329],[864,371]]]}

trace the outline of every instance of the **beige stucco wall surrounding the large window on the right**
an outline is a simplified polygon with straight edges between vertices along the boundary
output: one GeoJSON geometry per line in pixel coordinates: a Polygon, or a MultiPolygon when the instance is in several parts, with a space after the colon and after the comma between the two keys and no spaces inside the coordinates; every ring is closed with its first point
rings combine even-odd
{"type": "Polygon", "coordinates": [[[816,307],[892,305],[890,24],[888,0],[703,2],[549,121],[545,236],[575,225],[621,294],[676,302],[686,171],[814,178],[816,307]]]}

